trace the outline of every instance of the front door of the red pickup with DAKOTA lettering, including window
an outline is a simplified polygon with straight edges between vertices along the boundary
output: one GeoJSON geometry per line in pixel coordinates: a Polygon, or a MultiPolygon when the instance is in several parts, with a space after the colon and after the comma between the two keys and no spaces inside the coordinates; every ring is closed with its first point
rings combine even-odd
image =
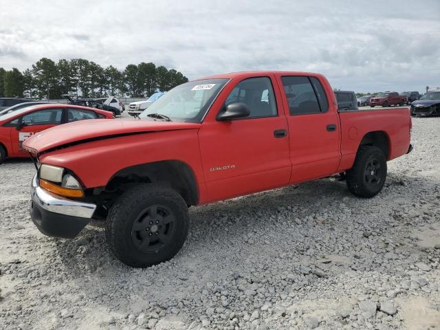
{"type": "Polygon", "coordinates": [[[241,80],[228,94],[224,106],[241,102],[250,115],[218,121],[210,111],[199,131],[208,199],[217,201],[259,192],[289,182],[287,119],[274,80],[256,76],[241,80]]]}

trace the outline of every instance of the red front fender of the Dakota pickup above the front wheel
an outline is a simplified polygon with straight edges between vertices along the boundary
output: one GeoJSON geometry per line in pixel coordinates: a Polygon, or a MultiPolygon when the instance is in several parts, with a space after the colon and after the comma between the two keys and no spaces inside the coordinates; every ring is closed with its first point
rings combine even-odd
{"type": "Polygon", "coordinates": [[[85,188],[96,188],[106,186],[123,168],[178,160],[190,166],[202,192],[205,179],[197,131],[159,131],[85,142],[43,154],[40,161],[69,168],[85,188]]]}

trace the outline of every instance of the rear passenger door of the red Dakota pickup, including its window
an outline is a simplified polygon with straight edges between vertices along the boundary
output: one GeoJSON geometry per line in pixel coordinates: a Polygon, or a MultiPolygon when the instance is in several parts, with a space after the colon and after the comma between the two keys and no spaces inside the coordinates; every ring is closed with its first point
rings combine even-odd
{"type": "Polygon", "coordinates": [[[340,162],[340,122],[335,105],[314,76],[281,76],[289,125],[290,183],[336,173],[340,162]]]}

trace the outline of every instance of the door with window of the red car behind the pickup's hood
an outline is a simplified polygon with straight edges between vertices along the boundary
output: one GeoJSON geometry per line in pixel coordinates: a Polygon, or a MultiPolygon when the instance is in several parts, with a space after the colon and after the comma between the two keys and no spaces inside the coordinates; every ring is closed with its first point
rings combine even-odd
{"type": "Polygon", "coordinates": [[[23,142],[35,133],[61,124],[62,118],[63,108],[43,109],[19,117],[16,124],[19,129],[11,129],[10,131],[14,154],[26,155],[27,151],[24,151],[22,147],[23,142]]]}

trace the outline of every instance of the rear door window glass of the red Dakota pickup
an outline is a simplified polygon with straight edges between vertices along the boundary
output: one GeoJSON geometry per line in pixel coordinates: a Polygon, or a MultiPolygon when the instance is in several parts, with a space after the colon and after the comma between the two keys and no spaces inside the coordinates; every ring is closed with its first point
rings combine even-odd
{"type": "Polygon", "coordinates": [[[320,113],[318,98],[316,98],[309,77],[284,76],[281,80],[291,115],[320,113]]]}

